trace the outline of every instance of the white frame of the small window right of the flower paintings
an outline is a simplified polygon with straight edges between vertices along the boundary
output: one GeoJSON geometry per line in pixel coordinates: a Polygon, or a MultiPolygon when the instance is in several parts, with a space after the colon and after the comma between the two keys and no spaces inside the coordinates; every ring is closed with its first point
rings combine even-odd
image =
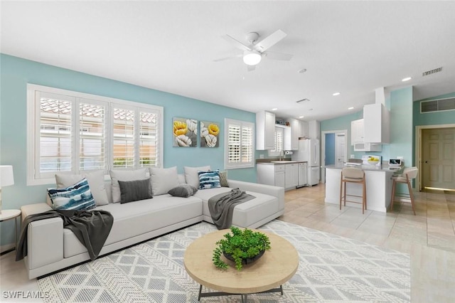
{"type": "Polygon", "coordinates": [[[247,169],[255,167],[255,123],[240,121],[236,119],[225,118],[225,169],[247,169]],[[240,159],[242,159],[242,129],[244,127],[251,128],[251,161],[240,161],[238,164],[229,162],[229,125],[234,124],[240,126],[240,159]]]}

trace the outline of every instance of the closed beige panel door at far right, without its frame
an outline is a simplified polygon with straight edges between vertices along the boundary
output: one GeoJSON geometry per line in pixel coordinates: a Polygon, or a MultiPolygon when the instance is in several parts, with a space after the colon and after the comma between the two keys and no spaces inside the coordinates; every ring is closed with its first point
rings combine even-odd
{"type": "Polygon", "coordinates": [[[423,129],[423,188],[455,189],[455,128],[423,129]]]}

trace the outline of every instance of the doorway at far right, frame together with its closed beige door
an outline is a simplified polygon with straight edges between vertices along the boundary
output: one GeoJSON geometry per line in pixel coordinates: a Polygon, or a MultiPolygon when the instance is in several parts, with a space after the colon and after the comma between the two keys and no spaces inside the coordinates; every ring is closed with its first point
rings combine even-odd
{"type": "Polygon", "coordinates": [[[455,124],[416,127],[417,188],[455,190],[455,124]]]}

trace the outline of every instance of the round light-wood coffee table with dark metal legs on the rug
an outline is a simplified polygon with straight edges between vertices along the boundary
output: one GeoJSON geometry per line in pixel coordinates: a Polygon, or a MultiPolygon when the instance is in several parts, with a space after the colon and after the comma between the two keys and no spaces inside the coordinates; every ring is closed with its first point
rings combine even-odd
{"type": "MultiPolygon", "coordinates": [[[[255,230],[265,233],[262,230],[255,230]]],[[[199,297],[213,297],[228,294],[241,294],[242,302],[247,294],[258,292],[281,292],[299,267],[299,255],[294,246],[279,235],[265,233],[270,239],[270,250],[266,250],[259,260],[243,265],[242,270],[235,268],[234,262],[225,259],[228,270],[220,270],[213,265],[212,255],[215,243],[223,238],[229,229],[218,230],[203,235],[186,248],[183,262],[185,269],[200,284],[199,297]],[[202,292],[202,287],[219,292],[202,292]],[[278,288],[277,288],[278,287],[278,288]]]]}

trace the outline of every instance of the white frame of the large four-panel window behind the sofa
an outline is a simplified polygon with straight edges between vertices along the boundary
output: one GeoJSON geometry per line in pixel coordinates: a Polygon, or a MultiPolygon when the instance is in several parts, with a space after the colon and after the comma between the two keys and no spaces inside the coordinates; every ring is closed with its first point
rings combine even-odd
{"type": "MultiPolygon", "coordinates": [[[[27,185],[28,186],[33,186],[33,185],[43,185],[43,184],[55,184],[55,174],[82,174],[83,172],[88,172],[90,170],[80,170],[78,166],[79,160],[73,161],[74,163],[72,164],[72,168],[70,171],[61,171],[61,172],[53,172],[53,173],[48,173],[47,176],[40,176],[38,173],[37,175],[35,174],[35,171],[37,169],[37,164],[39,165],[40,161],[40,154],[39,150],[40,147],[37,146],[37,142],[39,143],[39,138],[40,138],[40,129],[39,129],[39,123],[41,119],[40,115],[40,110],[39,110],[39,105],[37,106],[37,101],[36,101],[36,92],[45,92],[46,94],[56,94],[56,95],[65,95],[68,96],[71,100],[75,100],[75,103],[72,108],[75,108],[75,112],[72,112],[71,115],[71,124],[75,125],[74,128],[72,128],[71,132],[74,136],[74,142],[73,142],[73,147],[72,151],[77,151],[79,150],[79,124],[80,124],[80,119],[79,119],[79,109],[77,108],[80,105],[80,102],[86,102],[87,100],[92,102],[93,104],[102,104],[106,105],[106,112],[105,112],[105,161],[106,161],[106,169],[105,169],[105,174],[108,173],[109,169],[113,169],[113,119],[112,119],[112,108],[114,105],[122,106],[122,107],[131,107],[134,108],[138,115],[142,111],[149,111],[149,112],[154,112],[156,115],[158,115],[159,121],[156,123],[156,127],[158,128],[157,131],[157,157],[156,157],[156,166],[154,167],[161,167],[164,163],[164,107],[157,106],[157,105],[150,105],[147,103],[141,103],[141,102],[133,102],[133,101],[127,101],[127,100],[120,100],[116,98],[111,98],[111,97],[104,97],[100,95],[92,95],[88,94],[85,92],[75,92],[71,90],[63,90],[60,88],[55,88],[55,87],[47,87],[43,85],[35,85],[28,83],[27,84],[27,162],[26,162],[26,167],[27,167],[27,185]],[[53,176],[50,177],[49,174],[52,174],[53,176]]],[[[139,122],[136,122],[134,127],[137,127],[139,125],[139,122]]],[[[139,129],[137,130],[139,132],[139,129]]],[[[137,136],[139,137],[139,135],[137,136]]],[[[135,142],[135,145],[137,144],[137,148],[135,148],[135,153],[138,154],[139,152],[139,142],[135,142]],[[136,151],[137,149],[137,151],[136,151]]],[[[79,154],[72,154],[71,155],[73,158],[78,158],[79,154]]],[[[138,169],[139,168],[139,162],[140,162],[140,157],[135,158],[134,160],[134,168],[133,169],[138,169]]],[[[122,169],[122,168],[115,168],[115,169],[122,169]]]]}

